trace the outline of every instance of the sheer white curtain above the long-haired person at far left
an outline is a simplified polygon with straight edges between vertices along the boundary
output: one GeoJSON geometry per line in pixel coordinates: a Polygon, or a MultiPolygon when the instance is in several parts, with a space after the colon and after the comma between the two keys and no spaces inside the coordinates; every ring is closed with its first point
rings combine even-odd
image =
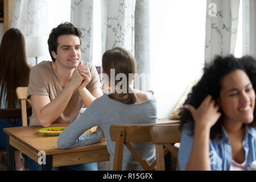
{"type": "Polygon", "coordinates": [[[11,27],[18,28],[24,36],[46,36],[46,0],[16,0],[11,27]]]}

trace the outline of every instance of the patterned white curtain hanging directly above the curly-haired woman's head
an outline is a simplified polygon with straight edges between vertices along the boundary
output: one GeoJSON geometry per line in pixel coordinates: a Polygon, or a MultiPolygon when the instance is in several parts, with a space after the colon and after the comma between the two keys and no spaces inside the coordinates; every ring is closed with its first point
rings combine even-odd
{"type": "Polygon", "coordinates": [[[240,0],[207,0],[205,63],[234,54],[240,0]]]}

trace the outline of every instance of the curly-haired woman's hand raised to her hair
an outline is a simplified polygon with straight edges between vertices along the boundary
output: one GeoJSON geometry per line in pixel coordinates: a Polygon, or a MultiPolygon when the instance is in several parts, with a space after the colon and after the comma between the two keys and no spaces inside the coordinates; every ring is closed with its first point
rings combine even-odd
{"type": "Polygon", "coordinates": [[[218,112],[220,107],[210,95],[205,97],[197,109],[189,104],[184,105],[184,107],[191,112],[197,129],[210,129],[221,116],[221,113],[218,112]]]}

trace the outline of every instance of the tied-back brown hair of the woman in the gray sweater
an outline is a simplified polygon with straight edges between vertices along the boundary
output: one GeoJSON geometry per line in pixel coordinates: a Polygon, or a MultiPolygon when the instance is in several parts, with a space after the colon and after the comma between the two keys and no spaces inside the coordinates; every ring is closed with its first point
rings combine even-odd
{"type": "MultiPolygon", "coordinates": [[[[106,51],[102,56],[102,68],[103,72],[110,78],[111,69],[114,69],[114,76],[119,73],[123,73],[127,78],[127,90],[125,93],[111,93],[109,98],[115,101],[122,102],[124,104],[134,104],[136,101],[135,94],[131,90],[129,84],[131,75],[137,72],[137,63],[134,56],[121,47],[115,47],[106,51]]],[[[118,80],[115,80],[115,86],[118,84],[118,80]]],[[[122,88],[121,88],[122,89],[122,88]]]]}

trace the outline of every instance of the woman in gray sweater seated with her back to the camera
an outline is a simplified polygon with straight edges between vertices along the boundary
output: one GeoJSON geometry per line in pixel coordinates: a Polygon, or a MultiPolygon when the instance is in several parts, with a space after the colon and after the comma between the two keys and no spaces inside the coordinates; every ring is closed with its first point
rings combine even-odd
{"type": "MultiPolygon", "coordinates": [[[[63,149],[85,146],[100,142],[105,135],[110,154],[110,169],[113,169],[115,142],[110,139],[110,126],[116,123],[156,123],[156,100],[153,92],[141,92],[131,88],[130,84],[136,73],[137,63],[134,56],[125,49],[117,47],[106,51],[102,57],[102,68],[110,94],[104,94],[94,100],[85,112],[60,134],[57,146],[63,149]],[[122,78],[122,84],[120,79],[114,81],[108,79],[112,78],[113,74],[115,78],[118,76],[122,78]],[[100,126],[104,135],[101,130],[83,135],[93,126],[100,126]]],[[[81,74],[89,82],[88,73],[81,74]]],[[[133,143],[133,146],[142,158],[149,162],[155,159],[154,144],[133,143]]],[[[123,149],[122,170],[143,170],[126,147],[123,149]]]]}

